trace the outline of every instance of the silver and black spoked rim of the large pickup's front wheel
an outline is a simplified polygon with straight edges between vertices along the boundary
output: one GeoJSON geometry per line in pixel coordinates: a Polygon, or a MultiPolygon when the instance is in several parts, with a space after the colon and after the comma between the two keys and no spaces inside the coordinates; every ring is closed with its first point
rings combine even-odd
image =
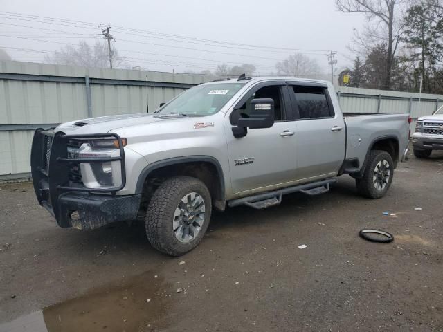
{"type": "Polygon", "coordinates": [[[183,196],[174,212],[172,227],[181,243],[190,243],[201,230],[205,220],[205,201],[197,192],[183,196]]]}

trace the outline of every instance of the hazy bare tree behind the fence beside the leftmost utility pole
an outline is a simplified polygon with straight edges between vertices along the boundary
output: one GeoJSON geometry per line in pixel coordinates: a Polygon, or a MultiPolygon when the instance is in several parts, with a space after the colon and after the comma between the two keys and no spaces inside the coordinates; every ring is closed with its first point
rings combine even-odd
{"type": "MultiPolygon", "coordinates": [[[[68,64],[71,66],[109,68],[109,51],[107,43],[96,42],[90,46],[82,40],[78,46],[66,45],[53,55],[46,55],[45,62],[50,64],[68,64]]],[[[125,58],[118,55],[114,48],[113,58],[117,66],[126,68],[125,58]]]]}

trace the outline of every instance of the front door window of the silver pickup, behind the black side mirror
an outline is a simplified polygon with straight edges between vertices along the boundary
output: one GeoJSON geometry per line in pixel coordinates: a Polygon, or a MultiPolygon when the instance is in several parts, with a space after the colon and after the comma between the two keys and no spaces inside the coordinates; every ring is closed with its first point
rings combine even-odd
{"type": "Polygon", "coordinates": [[[242,107],[230,114],[230,123],[237,124],[239,118],[248,118],[251,113],[251,100],[256,98],[272,98],[274,100],[275,122],[284,120],[283,98],[280,85],[264,86],[252,93],[242,107]]]}

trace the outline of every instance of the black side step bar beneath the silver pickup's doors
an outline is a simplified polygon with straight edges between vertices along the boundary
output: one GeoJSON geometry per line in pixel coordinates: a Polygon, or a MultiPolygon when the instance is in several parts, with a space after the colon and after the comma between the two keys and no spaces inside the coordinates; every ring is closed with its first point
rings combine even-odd
{"type": "Polygon", "coordinates": [[[337,178],[327,178],[326,180],[306,183],[305,185],[296,185],[294,187],[287,187],[273,192],[264,192],[263,194],[248,196],[242,199],[233,199],[233,201],[228,202],[228,206],[232,208],[244,204],[255,209],[265,209],[282,203],[282,195],[293,192],[302,192],[303,194],[311,196],[319,195],[329,192],[329,185],[336,182],[337,178]]]}

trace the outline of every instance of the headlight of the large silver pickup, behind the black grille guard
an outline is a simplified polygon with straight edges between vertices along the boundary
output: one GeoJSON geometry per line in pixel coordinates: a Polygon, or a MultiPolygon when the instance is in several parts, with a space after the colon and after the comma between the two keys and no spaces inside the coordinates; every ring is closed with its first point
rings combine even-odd
{"type": "MultiPolygon", "coordinates": [[[[123,147],[127,144],[126,138],[122,138],[123,147]]],[[[97,139],[89,140],[78,149],[78,158],[114,158],[120,156],[118,140],[97,139]]],[[[107,161],[104,163],[82,163],[83,184],[86,187],[118,187],[122,183],[121,161],[107,161]]]]}

